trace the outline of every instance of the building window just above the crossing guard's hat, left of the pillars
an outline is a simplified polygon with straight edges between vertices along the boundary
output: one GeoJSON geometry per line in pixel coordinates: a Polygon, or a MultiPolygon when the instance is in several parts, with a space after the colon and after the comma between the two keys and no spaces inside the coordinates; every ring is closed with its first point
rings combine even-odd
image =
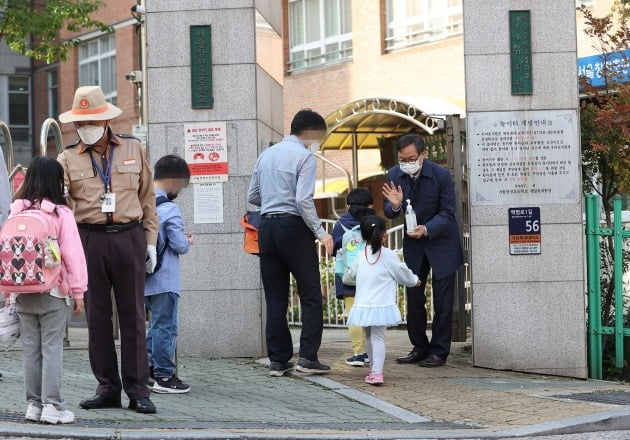
{"type": "Polygon", "coordinates": [[[79,46],[79,85],[101,86],[105,98],[116,104],[116,39],[113,34],[79,46]]]}

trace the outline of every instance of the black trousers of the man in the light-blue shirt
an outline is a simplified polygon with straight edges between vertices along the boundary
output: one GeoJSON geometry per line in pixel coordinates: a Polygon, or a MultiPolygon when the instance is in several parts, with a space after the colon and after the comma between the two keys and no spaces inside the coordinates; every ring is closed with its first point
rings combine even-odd
{"type": "Polygon", "coordinates": [[[269,359],[287,362],[293,357],[293,341],[287,322],[289,274],[293,274],[302,307],[300,357],[318,360],[324,319],[319,259],[313,233],[300,217],[263,218],[258,240],[267,301],[269,359]]]}

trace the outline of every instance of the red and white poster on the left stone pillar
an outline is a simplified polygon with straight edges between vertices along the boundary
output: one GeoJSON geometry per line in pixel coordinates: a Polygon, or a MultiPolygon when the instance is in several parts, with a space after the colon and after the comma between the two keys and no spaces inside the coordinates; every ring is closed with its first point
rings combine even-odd
{"type": "Polygon", "coordinates": [[[184,144],[190,183],[228,181],[225,122],[184,124],[184,144]]]}

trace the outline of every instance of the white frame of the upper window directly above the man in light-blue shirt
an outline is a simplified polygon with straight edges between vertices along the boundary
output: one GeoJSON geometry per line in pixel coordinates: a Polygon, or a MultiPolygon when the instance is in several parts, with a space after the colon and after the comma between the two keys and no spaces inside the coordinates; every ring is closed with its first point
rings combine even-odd
{"type": "MultiPolygon", "coordinates": [[[[339,32],[343,27],[343,23],[346,19],[346,14],[350,14],[350,24],[352,26],[352,9],[351,7],[346,8],[343,7],[342,2],[345,0],[335,0],[337,2],[337,10],[338,14],[336,17],[337,20],[337,28],[339,32]]],[[[326,0],[318,0],[318,12],[319,12],[319,35],[320,39],[313,42],[303,42],[301,44],[297,44],[292,46],[293,39],[295,36],[292,33],[292,25],[291,25],[291,5],[295,3],[302,3],[302,22],[304,23],[302,29],[302,41],[306,41],[306,0],[289,0],[288,2],[288,20],[289,20],[289,62],[288,62],[288,72],[300,72],[309,70],[312,68],[329,65],[329,64],[337,64],[347,62],[352,59],[353,54],[353,45],[352,45],[352,30],[350,32],[346,32],[344,34],[337,34],[331,37],[326,37],[326,0]],[[330,45],[337,45],[337,50],[328,51],[327,47],[330,45]],[[312,51],[319,49],[320,53],[315,56],[307,57],[307,54],[312,51]],[[302,58],[294,58],[295,54],[302,54],[302,58]],[[337,58],[328,59],[331,55],[338,54],[337,58]],[[313,60],[319,60],[318,62],[313,62],[313,60]],[[295,66],[295,64],[302,64],[295,66]]]]}

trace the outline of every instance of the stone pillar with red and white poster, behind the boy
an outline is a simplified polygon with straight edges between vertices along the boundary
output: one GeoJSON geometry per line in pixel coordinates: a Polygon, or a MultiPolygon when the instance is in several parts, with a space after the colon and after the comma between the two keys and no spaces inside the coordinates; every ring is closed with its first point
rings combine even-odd
{"type": "Polygon", "coordinates": [[[243,251],[239,220],[248,209],[256,158],[281,139],[283,126],[282,21],[280,8],[271,3],[146,1],[151,162],[169,153],[184,156],[184,124],[225,121],[227,127],[223,223],[194,223],[192,187],[177,199],[187,232],[196,235],[191,252],[181,258],[180,354],[250,357],[265,352],[259,264],[243,251]],[[191,106],[193,25],[211,26],[211,109],[191,106]]]}

